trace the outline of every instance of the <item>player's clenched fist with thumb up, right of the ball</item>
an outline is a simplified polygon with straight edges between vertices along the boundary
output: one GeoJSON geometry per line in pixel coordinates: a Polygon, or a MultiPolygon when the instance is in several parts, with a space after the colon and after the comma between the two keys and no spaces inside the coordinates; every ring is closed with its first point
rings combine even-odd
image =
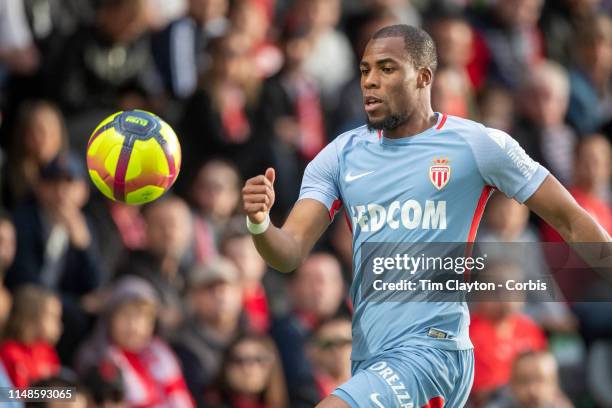
{"type": "Polygon", "coordinates": [[[265,175],[250,178],[244,184],[242,202],[244,203],[244,212],[251,222],[256,224],[264,222],[270,208],[274,205],[275,177],[274,169],[269,168],[265,175]]]}

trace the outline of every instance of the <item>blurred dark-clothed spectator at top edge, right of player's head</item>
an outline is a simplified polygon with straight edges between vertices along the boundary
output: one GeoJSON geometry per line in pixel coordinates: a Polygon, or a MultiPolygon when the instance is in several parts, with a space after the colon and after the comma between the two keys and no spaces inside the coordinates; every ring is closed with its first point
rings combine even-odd
{"type": "MultiPolygon", "coordinates": [[[[496,1],[477,19],[472,78],[484,75],[510,89],[521,85],[524,74],[543,55],[537,27],[543,0],[496,1]]],[[[478,83],[478,80],[477,82],[478,83]]]]}

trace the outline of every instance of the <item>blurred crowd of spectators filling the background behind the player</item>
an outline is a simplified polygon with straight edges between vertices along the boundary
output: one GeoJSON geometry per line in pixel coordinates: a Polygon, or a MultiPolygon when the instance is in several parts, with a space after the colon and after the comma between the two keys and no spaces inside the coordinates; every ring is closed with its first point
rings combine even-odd
{"type": "MultiPolygon", "coordinates": [[[[345,220],[281,275],[245,229],[240,189],[274,167],[282,222],[308,161],[365,123],[358,61],[386,25],[437,43],[436,111],[510,133],[612,233],[610,12],[610,0],[0,0],[0,386],[76,385],[74,408],[299,408],[347,380],[345,220]],[[142,207],[105,199],[83,160],[94,127],[134,108],[167,120],[183,153],[173,191],[142,207]]],[[[478,239],[560,237],[496,193],[478,239]]],[[[537,277],[547,262],[489,268],[537,277]]],[[[473,305],[471,406],[612,407],[611,315],[605,302],[473,305]]]]}

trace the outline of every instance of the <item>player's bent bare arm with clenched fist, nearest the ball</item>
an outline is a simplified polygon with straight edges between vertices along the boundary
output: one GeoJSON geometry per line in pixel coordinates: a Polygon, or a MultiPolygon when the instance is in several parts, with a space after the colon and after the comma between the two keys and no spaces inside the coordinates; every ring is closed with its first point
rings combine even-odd
{"type": "MultiPolygon", "coordinates": [[[[249,220],[261,224],[274,204],[274,169],[247,180],[242,189],[244,210],[249,220]]],[[[281,227],[253,235],[255,247],[266,262],[281,272],[296,269],[329,225],[329,211],[317,200],[299,200],[281,227]]]]}

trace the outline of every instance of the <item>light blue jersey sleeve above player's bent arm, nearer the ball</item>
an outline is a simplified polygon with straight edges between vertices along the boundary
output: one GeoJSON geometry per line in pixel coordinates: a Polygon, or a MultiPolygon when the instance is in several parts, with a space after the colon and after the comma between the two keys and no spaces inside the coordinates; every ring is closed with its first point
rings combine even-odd
{"type": "Polygon", "coordinates": [[[334,203],[340,198],[338,169],[339,162],[334,141],[325,146],[306,166],[298,200],[311,198],[320,201],[332,211],[334,203]]]}

